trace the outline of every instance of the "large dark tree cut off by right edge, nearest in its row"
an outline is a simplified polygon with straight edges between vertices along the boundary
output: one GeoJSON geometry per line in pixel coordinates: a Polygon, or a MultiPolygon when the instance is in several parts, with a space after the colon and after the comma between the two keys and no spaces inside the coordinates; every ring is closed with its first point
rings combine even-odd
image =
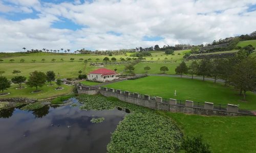
{"type": "Polygon", "coordinates": [[[236,88],[240,89],[240,93],[243,91],[245,100],[247,91],[256,90],[256,58],[248,57],[237,64],[230,80],[236,88]]]}

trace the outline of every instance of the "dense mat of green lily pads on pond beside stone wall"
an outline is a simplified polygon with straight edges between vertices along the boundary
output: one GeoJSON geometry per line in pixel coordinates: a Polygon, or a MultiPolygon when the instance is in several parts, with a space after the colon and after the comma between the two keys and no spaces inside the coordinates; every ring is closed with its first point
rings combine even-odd
{"type": "Polygon", "coordinates": [[[153,110],[101,95],[79,95],[78,100],[84,104],[81,109],[109,110],[119,106],[132,111],[112,134],[108,152],[174,152],[180,147],[177,126],[153,110]]]}

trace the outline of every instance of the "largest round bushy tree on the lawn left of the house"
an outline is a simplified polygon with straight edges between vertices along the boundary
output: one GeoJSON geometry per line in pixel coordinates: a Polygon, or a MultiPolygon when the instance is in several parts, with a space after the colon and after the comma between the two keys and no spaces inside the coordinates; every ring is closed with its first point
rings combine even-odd
{"type": "Polygon", "coordinates": [[[29,87],[42,87],[46,83],[46,74],[40,71],[34,71],[30,73],[30,77],[28,79],[27,85],[29,87]]]}

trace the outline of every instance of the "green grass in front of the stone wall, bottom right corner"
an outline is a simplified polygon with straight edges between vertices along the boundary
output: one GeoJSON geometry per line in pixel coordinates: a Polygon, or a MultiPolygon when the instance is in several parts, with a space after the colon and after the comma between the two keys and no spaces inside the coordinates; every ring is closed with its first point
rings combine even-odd
{"type": "Polygon", "coordinates": [[[212,152],[255,152],[255,117],[187,115],[158,111],[172,118],[185,136],[201,134],[212,152]]]}

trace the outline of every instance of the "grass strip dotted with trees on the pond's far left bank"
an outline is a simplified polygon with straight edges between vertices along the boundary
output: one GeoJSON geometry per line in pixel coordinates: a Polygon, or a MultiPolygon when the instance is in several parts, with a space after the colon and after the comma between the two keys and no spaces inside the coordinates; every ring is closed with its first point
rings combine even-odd
{"type": "MultiPolygon", "coordinates": [[[[57,85],[54,86],[47,86],[49,83],[47,83],[45,86],[38,87],[38,90],[42,90],[41,92],[38,93],[31,93],[31,91],[36,90],[35,88],[24,88],[20,90],[16,90],[17,85],[12,85],[11,88],[8,90],[5,90],[4,92],[10,92],[11,94],[5,95],[5,96],[0,96],[0,98],[8,98],[8,97],[26,97],[26,98],[36,98],[36,99],[41,99],[41,98],[48,98],[52,96],[57,96],[61,94],[67,94],[71,93],[73,91],[74,86],[68,86],[68,85],[61,85],[64,87],[62,90],[54,90],[57,88],[57,85]]],[[[26,85],[23,85],[26,86],[26,85]]]]}

